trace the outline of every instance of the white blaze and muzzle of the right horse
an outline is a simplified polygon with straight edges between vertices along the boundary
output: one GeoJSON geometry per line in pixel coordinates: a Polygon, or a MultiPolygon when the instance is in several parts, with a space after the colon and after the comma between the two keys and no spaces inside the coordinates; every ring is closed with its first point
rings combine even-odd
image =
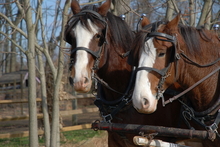
{"type": "MultiPolygon", "coordinates": [[[[156,48],[153,38],[145,43],[145,50],[141,52],[138,67],[153,67],[156,59],[156,48]]],[[[152,94],[151,83],[148,79],[148,71],[137,72],[135,88],[133,92],[133,106],[140,112],[152,113],[156,110],[156,96],[152,94]],[[147,101],[146,101],[147,100],[147,101]]]]}

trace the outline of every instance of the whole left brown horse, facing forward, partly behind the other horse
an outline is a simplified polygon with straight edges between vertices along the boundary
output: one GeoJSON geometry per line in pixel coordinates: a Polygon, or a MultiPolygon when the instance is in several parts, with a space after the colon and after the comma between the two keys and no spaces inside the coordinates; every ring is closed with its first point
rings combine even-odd
{"type": "MultiPolygon", "coordinates": [[[[76,0],[72,1],[74,15],[65,31],[66,41],[72,46],[70,83],[77,92],[89,92],[92,82],[98,82],[95,104],[104,121],[177,126],[178,113],[170,114],[174,109],[179,111],[178,103],[166,108],[158,106],[158,112],[151,115],[138,113],[132,107],[133,73],[132,66],[127,63],[127,55],[135,34],[120,17],[108,12],[110,4],[111,0],[106,0],[100,7],[89,5],[81,9],[76,0]],[[163,117],[157,117],[159,114],[163,117]]],[[[138,134],[109,131],[108,145],[133,147],[134,135],[138,134]]]]}

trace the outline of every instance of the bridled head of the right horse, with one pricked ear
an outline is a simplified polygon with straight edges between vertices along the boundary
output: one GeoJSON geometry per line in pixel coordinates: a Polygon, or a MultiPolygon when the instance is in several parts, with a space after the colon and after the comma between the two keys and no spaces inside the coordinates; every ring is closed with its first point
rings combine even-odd
{"type": "Polygon", "coordinates": [[[136,35],[133,49],[133,64],[137,66],[133,106],[141,113],[153,113],[158,99],[175,82],[174,54],[178,33],[178,15],[172,21],[146,23],[136,35]]]}

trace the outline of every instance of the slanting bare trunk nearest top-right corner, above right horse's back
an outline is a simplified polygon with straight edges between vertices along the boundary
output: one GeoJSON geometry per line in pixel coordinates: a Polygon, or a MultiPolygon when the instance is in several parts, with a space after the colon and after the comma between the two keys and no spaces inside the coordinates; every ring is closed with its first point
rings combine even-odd
{"type": "Polygon", "coordinates": [[[201,16],[197,27],[204,26],[206,29],[210,29],[211,23],[211,10],[212,0],[204,0],[201,16]]]}

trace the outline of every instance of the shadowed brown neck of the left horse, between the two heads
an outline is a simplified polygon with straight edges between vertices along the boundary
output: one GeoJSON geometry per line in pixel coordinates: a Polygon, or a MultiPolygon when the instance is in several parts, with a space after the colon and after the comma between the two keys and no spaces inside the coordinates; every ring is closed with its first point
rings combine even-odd
{"type": "MultiPolygon", "coordinates": [[[[122,58],[111,48],[105,65],[97,73],[109,87],[117,92],[124,93],[130,81],[131,66],[127,63],[127,58],[122,58]]],[[[106,86],[103,86],[102,90],[107,100],[115,100],[122,96],[106,86]]]]}

